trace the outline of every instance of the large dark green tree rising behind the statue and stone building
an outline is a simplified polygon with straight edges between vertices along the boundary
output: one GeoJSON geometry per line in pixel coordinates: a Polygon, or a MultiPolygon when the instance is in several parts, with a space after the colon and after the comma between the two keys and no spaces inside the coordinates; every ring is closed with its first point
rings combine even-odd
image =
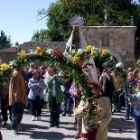
{"type": "Polygon", "coordinates": [[[70,35],[71,17],[82,16],[87,26],[103,25],[104,9],[109,13],[109,25],[130,25],[132,15],[135,21],[140,18],[140,6],[132,0],[57,0],[39,14],[47,17],[48,38],[63,41],[70,35]]]}

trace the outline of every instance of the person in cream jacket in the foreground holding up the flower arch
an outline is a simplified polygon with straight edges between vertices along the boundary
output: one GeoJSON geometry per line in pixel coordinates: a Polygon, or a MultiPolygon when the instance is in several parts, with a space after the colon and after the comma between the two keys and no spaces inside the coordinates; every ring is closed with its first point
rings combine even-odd
{"type": "MultiPolygon", "coordinates": [[[[86,131],[84,119],[84,112],[89,107],[88,102],[81,100],[78,108],[75,110],[76,117],[82,117],[82,136],[85,140],[107,140],[108,124],[111,121],[111,105],[109,98],[102,96],[101,89],[98,84],[90,83],[96,97],[94,101],[98,104],[94,124],[91,131],[86,131]]],[[[91,114],[90,114],[91,115],[91,114]]]]}

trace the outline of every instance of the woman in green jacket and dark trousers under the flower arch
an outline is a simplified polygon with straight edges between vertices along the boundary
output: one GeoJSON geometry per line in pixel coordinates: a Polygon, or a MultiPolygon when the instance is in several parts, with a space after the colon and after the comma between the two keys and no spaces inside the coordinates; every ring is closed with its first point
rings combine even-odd
{"type": "Polygon", "coordinates": [[[63,101],[61,85],[64,81],[57,75],[56,69],[49,67],[48,76],[45,78],[47,84],[44,100],[49,103],[50,108],[50,127],[59,128],[60,105],[63,101]]]}

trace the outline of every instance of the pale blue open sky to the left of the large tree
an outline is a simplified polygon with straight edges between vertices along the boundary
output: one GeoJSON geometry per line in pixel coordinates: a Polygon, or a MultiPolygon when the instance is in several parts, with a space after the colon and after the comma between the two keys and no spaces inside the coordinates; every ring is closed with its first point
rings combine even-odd
{"type": "Polygon", "coordinates": [[[56,0],[0,0],[0,30],[16,41],[29,41],[33,33],[46,28],[46,21],[38,21],[37,12],[48,8],[56,0]]]}

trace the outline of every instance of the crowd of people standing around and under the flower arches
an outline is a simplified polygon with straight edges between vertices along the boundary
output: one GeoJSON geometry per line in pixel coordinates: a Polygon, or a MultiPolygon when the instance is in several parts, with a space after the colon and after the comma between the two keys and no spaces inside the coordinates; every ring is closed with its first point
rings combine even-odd
{"type": "Polygon", "coordinates": [[[89,82],[96,95],[94,102],[98,104],[92,130],[86,129],[86,119],[83,117],[89,102],[81,100],[81,85],[70,77],[64,78],[55,67],[35,67],[34,63],[24,69],[15,67],[10,81],[2,84],[2,125],[7,125],[9,115],[11,129],[17,135],[24,110],[30,110],[32,121],[41,121],[42,109],[47,105],[50,127],[59,128],[61,113],[62,116],[74,114],[74,123],[77,125],[75,139],[107,140],[112,114],[121,112],[121,107],[125,106],[126,120],[134,118],[137,140],[140,140],[139,70],[129,68],[125,78],[111,69],[97,69],[97,73],[99,83],[89,82]]]}

